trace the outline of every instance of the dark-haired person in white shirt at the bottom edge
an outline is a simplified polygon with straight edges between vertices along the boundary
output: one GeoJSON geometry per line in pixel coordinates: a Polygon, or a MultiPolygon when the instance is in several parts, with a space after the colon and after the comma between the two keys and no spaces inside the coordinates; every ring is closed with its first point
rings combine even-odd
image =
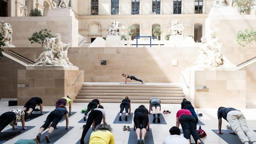
{"type": "Polygon", "coordinates": [[[163,141],[163,144],[190,144],[186,138],[180,135],[178,127],[170,128],[169,132],[170,136],[163,141]]]}

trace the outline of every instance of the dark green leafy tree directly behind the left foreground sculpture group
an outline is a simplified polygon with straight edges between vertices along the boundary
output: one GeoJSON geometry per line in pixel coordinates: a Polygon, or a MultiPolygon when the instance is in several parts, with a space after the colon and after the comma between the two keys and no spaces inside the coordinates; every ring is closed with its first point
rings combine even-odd
{"type": "Polygon", "coordinates": [[[41,29],[39,32],[34,32],[33,35],[31,37],[28,38],[28,40],[30,41],[31,44],[33,43],[38,43],[38,44],[42,44],[43,47],[43,42],[45,40],[45,38],[51,38],[54,37],[53,35],[51,35],[50,33],[51,31],[48,29],[41,29]]]}

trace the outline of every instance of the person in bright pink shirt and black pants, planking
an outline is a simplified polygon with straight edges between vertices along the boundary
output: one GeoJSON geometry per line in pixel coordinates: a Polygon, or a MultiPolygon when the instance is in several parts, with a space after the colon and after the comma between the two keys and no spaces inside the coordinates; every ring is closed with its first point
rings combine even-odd
{"type": "Polygon", "coordinates": [[[184,137],[190,142],[190,135],[197,144],[201,144],[198,132],[196,131],[196,119],[189,110],[181,109],[176,114],[176,127],[181,124],[184,137]]]}

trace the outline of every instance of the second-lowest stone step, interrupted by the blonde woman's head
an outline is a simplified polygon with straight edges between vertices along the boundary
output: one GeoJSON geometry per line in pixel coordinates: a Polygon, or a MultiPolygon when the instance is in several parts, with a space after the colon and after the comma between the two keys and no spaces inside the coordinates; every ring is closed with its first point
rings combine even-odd
{"type": "MultiPolygon", "coordinates": [[[[151,98],[159,98],[162,100],[183,100],[185,98],[184,96],[182,97],[160,97],[160,96],[155,96],[155,97],[147,97],[147,96],[129,96],[130,100],[150,100],[151,98]]],[[[76,99],[99,99],[100,101],[102,99],[124,99],[124,96],[76,96],[76,99]]],[[[121,102],[120,101],[120,102],[121,102]]]]}

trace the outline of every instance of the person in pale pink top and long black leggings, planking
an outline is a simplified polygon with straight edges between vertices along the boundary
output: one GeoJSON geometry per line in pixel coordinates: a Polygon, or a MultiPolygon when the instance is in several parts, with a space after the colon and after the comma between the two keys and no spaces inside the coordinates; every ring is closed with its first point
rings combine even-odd
{"type": "Polygon", "coordinates": [[[82,137],[80,140],[81,144],[84,144],[84,137],[86,136],[86,133],[90,129],[91,125],[92,129],[94,130],[94,128],[101,123],[102,118],[103,123],[106,124],[106,112],[103,106],[98,106],[98,108],[95,108],[90,112],[86,125],[83,129],[82,137]]]}

